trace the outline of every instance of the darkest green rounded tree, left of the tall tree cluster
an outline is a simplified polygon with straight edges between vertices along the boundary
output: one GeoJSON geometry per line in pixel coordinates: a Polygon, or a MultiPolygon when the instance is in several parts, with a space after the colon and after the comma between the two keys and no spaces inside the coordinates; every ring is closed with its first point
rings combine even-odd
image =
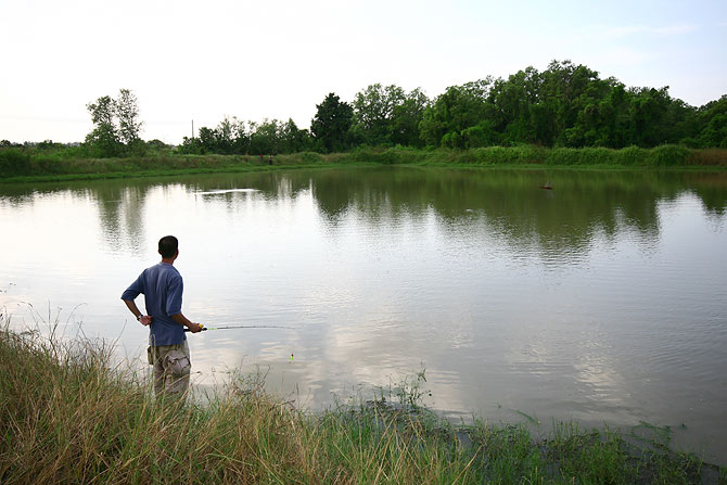
{"type": "Polygon", "coordinates": [[[346,150],[354,116],[350,104],[342,102],[329,93],[322,103],[316,105],[316,116],[310,120],[310,132],[327,152],[346,150]]]}

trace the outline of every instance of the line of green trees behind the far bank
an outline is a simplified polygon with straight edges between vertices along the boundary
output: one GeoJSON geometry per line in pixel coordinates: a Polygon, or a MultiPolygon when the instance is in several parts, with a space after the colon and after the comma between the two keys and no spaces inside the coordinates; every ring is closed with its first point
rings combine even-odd
{"type": "MultiPolygon", "coordinates": [[[[93,130],[84,145],[93,156],[142,154],[163,145],[143,142],[136,97],[122,89],[116,99],[87,105],[93,130]]],[[[3,142],[4,143],[4,142],[3,142]]],[[[480,146],[625,146],[661,144],[727,148],[727,94],[703,106],[672,98],[668,87],[626,87],[613,77],[571,61],[547,69],[527,67],[505,78],[450,86],[428,98],[374,84],[350,102],[331,92],[316,105],[309,128],[293,119],[262,123],[225,117],[202,127],[177,146],[183,154],[284,154],[343,152],[361,145],[417,149],[480,146]]]]}

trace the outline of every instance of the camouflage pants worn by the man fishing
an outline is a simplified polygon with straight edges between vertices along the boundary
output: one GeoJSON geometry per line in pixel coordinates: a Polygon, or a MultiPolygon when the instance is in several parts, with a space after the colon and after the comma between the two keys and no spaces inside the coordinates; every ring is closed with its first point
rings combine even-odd
{"type": "Polygon", "coordinates": [[[177,345],[150,346],[148,355],[149,363],[154,366],[154,394],[183,397],[192,367],[187,341],[177,345]]]}

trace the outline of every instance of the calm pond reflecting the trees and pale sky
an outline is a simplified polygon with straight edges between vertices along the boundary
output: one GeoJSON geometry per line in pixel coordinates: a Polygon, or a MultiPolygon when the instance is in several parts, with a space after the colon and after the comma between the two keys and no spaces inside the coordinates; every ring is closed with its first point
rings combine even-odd
{"type": "Polygon", "coordinates": [[[175,234],[191,320],[286,327],[190,335],[199,386],[259,372],[317,411],[425,371],[423,404],[452,420],[668,425],[675,448],[727,464],[725,173],[5,184],[0,228],[13,327],[58,321],[141,365],[146,330],[119,297],[175,234]]]}

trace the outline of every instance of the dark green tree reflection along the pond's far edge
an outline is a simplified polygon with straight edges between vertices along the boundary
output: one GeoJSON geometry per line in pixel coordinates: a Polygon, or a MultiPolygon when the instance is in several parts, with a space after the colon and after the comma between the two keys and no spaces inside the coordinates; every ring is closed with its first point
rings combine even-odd
{"type": "Polygon", "coordinates": [[[224,200],[228,210],[250,199],[284,204],[310,193],[332,229],[350,214],[367,224],[399,226],[405,220],[423,225],[434,213],[452,234],[484,225],[501,235],[501,244],[562,261],[583,254],[596,235],[610,240],[624,230],[654,244],[659,204],[684,193],[698,195],[704,210],[718,221],[727,209],[726,186],[725,174],[375,167],[48,183],[31,189],[2,186],[0,194],[2,204],[11,207],[33,205],[42,194],[59,191],[72,200],[91,199],[111,252],[143,251],[150,194],[162,190],[168,196],[171,188],[181,188],[189,193],[228,190],[200,197],[208,203],[224,200]],[[553,190],[538,189],[543,180],[549,180],[553,190]],[[235,191],[241,188],[257,193],[235,191]]]}

